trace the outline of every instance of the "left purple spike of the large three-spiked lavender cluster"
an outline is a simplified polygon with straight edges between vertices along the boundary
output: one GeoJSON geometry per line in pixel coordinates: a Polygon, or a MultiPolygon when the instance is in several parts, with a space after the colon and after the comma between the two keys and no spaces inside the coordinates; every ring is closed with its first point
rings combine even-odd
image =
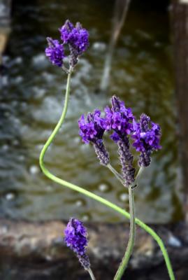
{"type": "Polygon", "coordinates": [[[87,118],[82,115],[78,120],[78,126],[80,128],[80,137],[85,144],[91,142],[94,145],[97,158],[102,165],[108,165],[110,158],[108,151],[103,144],[103,134],[105,132],[104,120],[101,118],[101,111],[95,110],[94,113],[88,113],[87,118]]]}

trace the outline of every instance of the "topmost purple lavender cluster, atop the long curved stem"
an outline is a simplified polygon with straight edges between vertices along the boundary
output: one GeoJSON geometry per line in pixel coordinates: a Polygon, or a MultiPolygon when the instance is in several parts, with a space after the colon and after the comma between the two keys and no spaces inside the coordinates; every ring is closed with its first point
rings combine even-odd
{"type": "Polygon", "coordinates": [[[48,48],[45,49],[46,56],[52,64],[62,67],[64,64],[64,46],[68,45],[70,51],[69,64],[74,67],[78,62],[78,57],[82,55],[89,46],[89,33],[82,28],[80,22],[77,22],[75,27],[66,20],[62,28],[59,29],[62,43],[52,38],[47,38],[48,48]]]}

